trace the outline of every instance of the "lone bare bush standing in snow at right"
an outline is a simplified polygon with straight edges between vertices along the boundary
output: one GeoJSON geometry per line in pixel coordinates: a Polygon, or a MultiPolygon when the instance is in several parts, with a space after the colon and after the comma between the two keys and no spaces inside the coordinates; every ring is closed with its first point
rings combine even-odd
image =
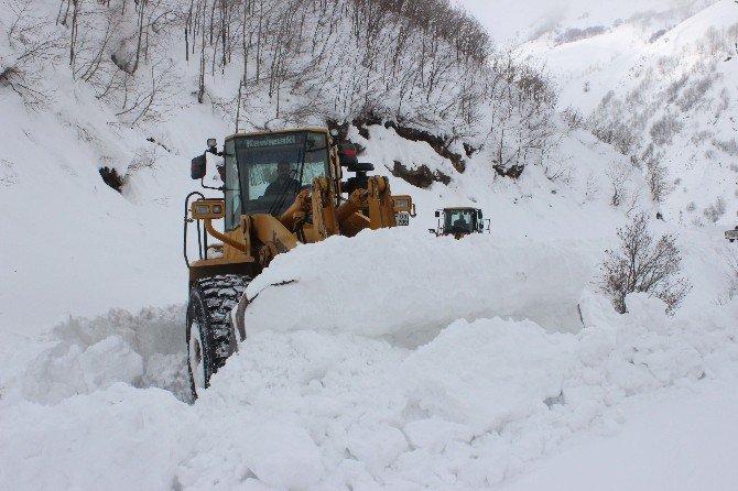
{"type": "Polygon", "coordinates": [[[662,299],[666,312],[673,314],[692,290],[690,281],[680,276],[682,255],[676,238],[668,233],[654,242],[645,214],[619,228],[618,238],[619,250],[606,251],[607,258],[600,264],[601,292],[620,314],[626,313],[626,296],[633,292],[662,299]]]}

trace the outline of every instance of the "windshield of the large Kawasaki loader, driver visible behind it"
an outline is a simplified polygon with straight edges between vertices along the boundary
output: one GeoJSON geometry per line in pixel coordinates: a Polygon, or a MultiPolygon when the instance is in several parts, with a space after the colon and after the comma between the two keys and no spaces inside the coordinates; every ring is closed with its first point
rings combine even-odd
{"type": "Polygon", "coordinates": [[[328,172],[326,135],[318,132],[237,137],[246,212],[281,215],[302,189],[328,172]]]}

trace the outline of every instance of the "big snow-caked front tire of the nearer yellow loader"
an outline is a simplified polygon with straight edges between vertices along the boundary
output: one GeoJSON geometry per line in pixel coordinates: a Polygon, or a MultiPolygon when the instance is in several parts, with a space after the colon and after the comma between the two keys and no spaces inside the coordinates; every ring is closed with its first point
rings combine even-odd
{"type": "Polygon", "coordinates": [[[196,281],[187,304],[187,373],[192,399],[210,385],[210,377],[226,364],[236,340],[229,314],[243,295],[251,277],[224,274],[196,281]]]}

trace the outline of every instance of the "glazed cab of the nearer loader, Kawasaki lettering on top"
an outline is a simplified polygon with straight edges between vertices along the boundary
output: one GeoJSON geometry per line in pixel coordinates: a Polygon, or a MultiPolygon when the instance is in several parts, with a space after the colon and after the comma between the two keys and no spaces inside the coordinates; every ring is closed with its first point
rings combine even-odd
{"type": "Polygon", "coordinates": [[[330,176],[327,131],[236,134],[224,148],[226,230],[241,215],[280,216],[313,179],[330,176]]]}

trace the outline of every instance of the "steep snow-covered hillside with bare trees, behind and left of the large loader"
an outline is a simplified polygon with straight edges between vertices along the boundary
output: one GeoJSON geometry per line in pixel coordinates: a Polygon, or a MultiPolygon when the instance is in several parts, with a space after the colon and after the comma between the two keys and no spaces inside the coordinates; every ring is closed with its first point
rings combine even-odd
{"type": "MultiPolygon", "coordinates": [[[[198,3],[197,15],[204,15],[206,3],[198,3]]],[[[316,9],[325,7],[317,0],[313,3],[316,9]]],[[[476,149],[479,168],[470,164],[462,176],[448,160],[422,142],[410,143],[409,148],[415,149],[412,155],[380,150],[406,144],[397,138],[388,145],[376,145],[383,153],[375,164],[381,170],[393,168],[394,160],[411,168],[426,164],[454,181],[478,182],[485,189],[493,185],[491,154],[499,156],[495,165],[500,168],[541,164],[541,145],[545,143],[547,150],[555,141],[551,126],[529,130],[532,124],[523,123],[521,117],[534,111],[535,121],[547,122],[553,110],[533,99],[519,99],[518,91],[510,92],[519,101],[514,111],[508,111],[507,100],[495,105],[497,112],[482,111],[491,107],[490,94],[484,88],[489,73],[478,64],[459,62],[456,55],[484,52],[484,41],[476,47],[468,47],[468,43],[449,47],[451,42],[442,37],[455,36],[453,40],[460,42],[465,35],[476,35],[470,20],[464,21],[468,29],[459,34],[413,29],[403,34],[402,43],[393,41],[393,57],[367,45],[350,53],[345,52],[347,46],[356,44],[363,32],[351,31],[350,19],[341,9],[359,9],[352,13],[360,15],[366,6],[346,0],[333,7],[329,21],[321,15],[323,10],[301,11],[305,15],[300,37],[290,37],[290,43],[301,46],[296,56],[281,58],[279,40],[264,30],[262,41],[271,43],[269,50],[258,51],[261,37],[251,39],[254,46],[234,51],[230,63],[223,64],[217,39],[189,40],[199,44],[182,42],[176,29],[189,25],[189,3],[146,3],[143,10],[126,10],[124,6],[77,6],[79,33],[70,56],[66,43],[75,22],[74,9],[59,12],[56,2],[44,0],[28,4],[3,1],[0,199],[13,210],[13,228],[21,229],[0,242],[0,255],[14,258],[3,261],[3,283],[13,286],[0,291],[0,319],[13,331],[37,332],[69,314],[93,315],[110,306],[166,305],[184,298],[186,272],[180,249],[183,197],[193,188],[187,179],[189,159],[203,152],[207,138],[223,139],[239,124],[240,129],[283,128],[371,116],[380,122],[392,120],[432,130],[433,135],[446,139],[444,144],[459,159],[465,155],[463,144],[469,143],[476,149]],[[145,28],[142,34],[138,24],[145,28]],[[145,70],[133,73],[129,63],[138,59],[137,43],[142,35],[145,52],[140,65],[145,70]],[[322,48],[330,56],[315,51],[314,36],[318,35],[325,36],[321,37],[322,48]],[[424,36],[433,40],[435,54],[419,57],[414,47],[424,36]],[[187,54],[185,46],[200,50],[199,61],[187,54]],[[243,59],[237,63],[239,56],[243,59]],[[434,63],[425,64],[426,58],[434,63]],[[219,69],[204,70],[203,59],[219,69]],[[260,74],[276,61],[289,73],[260,74]],[[352,65],[347,67],[346,61],[352,65]],[[369,75],[375,78],[369,79],[360,62],[381,62],[382,74],[392,72],[392,77],[404,79],[390,84],[384,75],[373,72],[369,75]],[[398,67],[387,65],[391,63],[398,67]],[[325,77],[339,70],[345,75],[325,77]],[[293,76],[295,73],[300,77],[293,76]],[[327,86],[314,87],[317,78],[327,86]],[[249,85],[239,90],[243,79],[249,85]],[[357,84],[358,79],[365,83],[357,84]],[[273,91],[278,80],[281,89],[273,91]],[[386,94],[382,88],[388,86],[391,89],[386,94]],[[503,124],[492,126],[490,118],[503,124]],[[99,171],[104,168],[122,176],[121,194],[102,183],[99,171]],[[80,290],[69,284],[90,286],[80,290]]],[[[250,2],[243,7],[254,8],[250,2]]],[[[285,0],[258,14],[249,11],[243,14],[242,28],[251,29],[256,22],[257,30],[262,22],[281,22],[284,12],[294,13],[299,7],[299,2],[285,0]]],[[[421,22],[425,15],[411,13],[421,19],[412,22],[421,22]]],[[[397,15],[380,19],[387,22],[372,31],[377,42],[390,42],[398,32],[413,28],[406,24],[411,21],[397,15]]],[[[240,33],[234,30],[232,35],[240,33]]],[[[507,85],[497,87],[503,91],[507,85]]],[[[355,141],[361,142],[356,129],[354,132],[355,141]]],[[[378,139],[393,138],[391,130],[375,132],[382,133],[378,139]]],[[[552,172],[557,170],[554,165],[552,172]]],[[[398,188],[403,186],[398,184],[398,188]]],[[[479,192],[459,194],[468,200],[479,192]]],[[[426,210],[435,209],[435,203],[428,205],[426,210]]],[[[420,206],[424,206],[422,200],[420,206]]]]}

